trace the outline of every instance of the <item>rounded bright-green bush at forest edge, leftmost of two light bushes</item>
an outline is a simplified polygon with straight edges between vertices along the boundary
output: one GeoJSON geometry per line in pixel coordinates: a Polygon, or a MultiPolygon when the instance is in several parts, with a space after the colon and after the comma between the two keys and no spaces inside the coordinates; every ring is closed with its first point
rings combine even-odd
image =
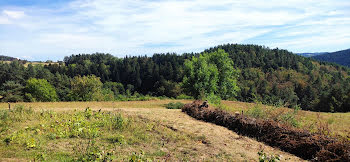
{"type": "Polygon", "coordinates": [[[57,101],[58,97],[55,88],[45,79],[31,78],[27,80],[26,92],[35,101],[57,101]],[[30,95],[29,95],[30,94],[30,95]]]}

